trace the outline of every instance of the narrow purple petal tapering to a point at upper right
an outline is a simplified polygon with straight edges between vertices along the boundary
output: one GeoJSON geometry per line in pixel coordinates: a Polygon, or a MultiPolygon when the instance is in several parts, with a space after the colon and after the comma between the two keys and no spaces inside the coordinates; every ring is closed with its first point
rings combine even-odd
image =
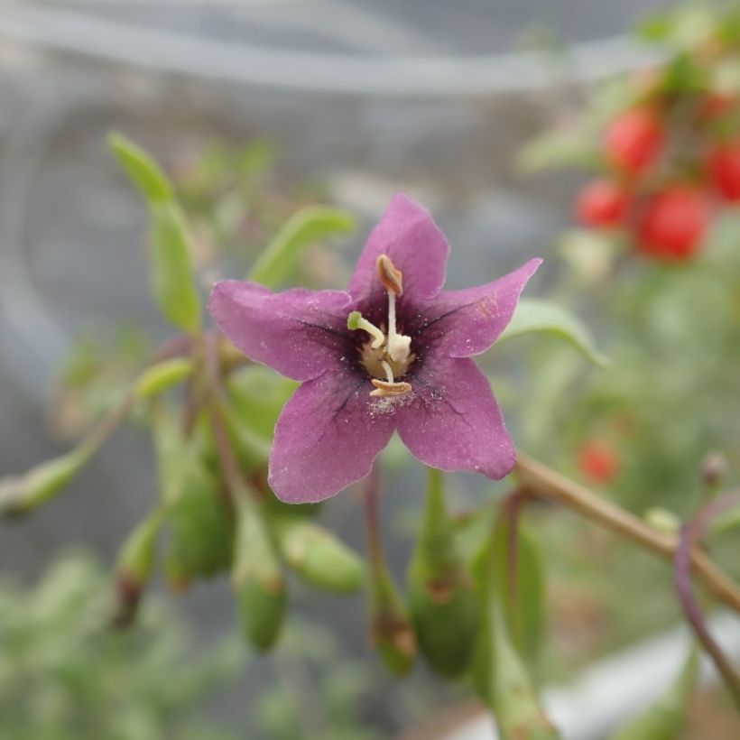
{"type": "Polygon", "coordinates": [[[425,309],[429,318],[418,329],[421,344],[452,357],[485,352],[512,320],[524,286],[541,264],[533,259],[486,285],[441,292],[425,309]]]}

